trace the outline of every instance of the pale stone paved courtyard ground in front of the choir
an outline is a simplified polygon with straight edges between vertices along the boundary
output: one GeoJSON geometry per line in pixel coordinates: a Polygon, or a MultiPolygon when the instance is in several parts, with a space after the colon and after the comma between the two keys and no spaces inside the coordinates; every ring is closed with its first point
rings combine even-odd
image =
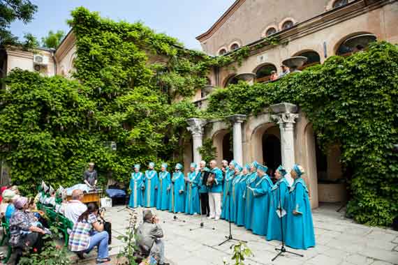
{"type": "MultiPolygon", "coordinates": [[[[316,233],[316,247],[309,250],[293,250],[304,257],[286,254],[271,262],[277,252],[278,241],[265,241],[263,237],[251,234],[242,227],[233,225],[233,236],[249,241],[254,257],[246,265],[257,264],[309,264],[309,265],[388,265],[398,264],[398,232],[391,229],[358,225],[351,219],[337,213],[338,205],[322,205],[313,211],[316,233]]],[[[108,209],[106,216],[112,221],[114,236],[112,253],[122,247],[115,239],[128,224],[127,211],[117,212],[119,207],[108,209]]],[[[199,227],[199,216],[179,214],[186,222],[173,221],[173,214],[154,210],[159,215],[165,230],[165,255],[175,265],[223,264],[223,257],[231,255],[230,243],[219,246],[228,234],[228,222],[205,220],[206,229],[199,227]],[[215,229],[213,230],[212,227],[215,229]]]]}

